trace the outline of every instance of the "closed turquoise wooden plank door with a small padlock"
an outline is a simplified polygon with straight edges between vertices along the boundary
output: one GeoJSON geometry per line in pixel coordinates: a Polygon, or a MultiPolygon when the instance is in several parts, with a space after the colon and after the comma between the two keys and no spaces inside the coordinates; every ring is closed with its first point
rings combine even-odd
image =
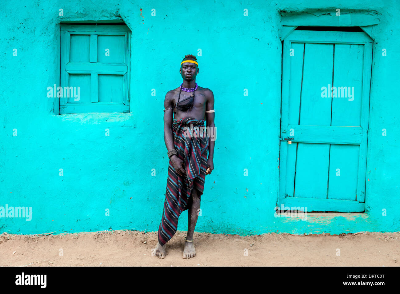
{"type": "Polygon", "coordinates": [[[363,212],[372,39],[294,30],[283,50],[279,207],[363,212]]]}

